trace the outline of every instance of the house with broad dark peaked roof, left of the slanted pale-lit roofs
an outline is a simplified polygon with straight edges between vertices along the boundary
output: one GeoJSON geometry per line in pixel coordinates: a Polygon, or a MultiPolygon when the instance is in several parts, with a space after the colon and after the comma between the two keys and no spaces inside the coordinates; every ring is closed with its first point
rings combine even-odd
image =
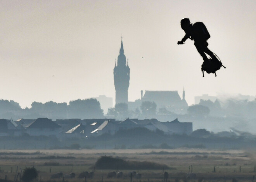
{"type": "Polygon", "coordinates": [[[51,119],[38,118],[26,127],[26,133],[31,136],[58,136],[62,128],[51,119]]]}

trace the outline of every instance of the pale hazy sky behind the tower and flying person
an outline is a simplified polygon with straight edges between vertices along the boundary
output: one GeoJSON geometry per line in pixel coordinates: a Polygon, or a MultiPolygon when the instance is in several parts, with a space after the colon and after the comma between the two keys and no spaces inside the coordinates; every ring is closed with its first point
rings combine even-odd
{"type": "Polygon", "coordinates": [[[194,96],[256,95],[255,0],[0,0],[0,98],[69,102],[115,97],[113,68],[123,36],[128,100],[140,90],[194,96]],[[209,49],[227,69],[202,78],[202,58],[180,20],[204,22],[209,49]],[[142,58],[143,57],[143,58],[142,58]]]}

